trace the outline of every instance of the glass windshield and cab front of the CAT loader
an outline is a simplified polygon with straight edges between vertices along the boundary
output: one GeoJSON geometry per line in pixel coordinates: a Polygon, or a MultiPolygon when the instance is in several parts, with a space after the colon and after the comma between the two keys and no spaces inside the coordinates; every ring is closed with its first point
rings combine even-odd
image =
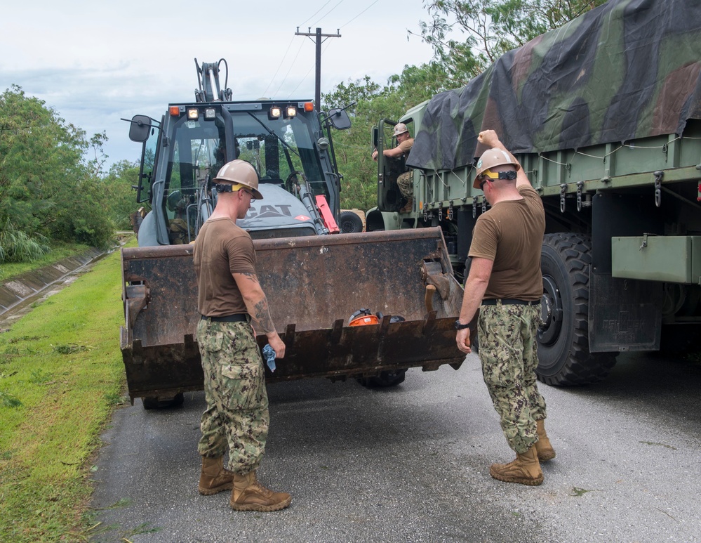
{"type": "MultiPolygon", "coordinates": [[[[310,201],[323,196],[336,202],[335,178],[327,179],[333,171],[329,155],[316,147],[321,134],[316,112],[299,108],[297,115],[274,117],[271,109],[260,103],[171,106],[153,192],[154,209],[164,227],[159,240],[166,235],[169,244],[194,240],[215,205],[212,181],[234,159],[253,164],[261,185],[276,185],[301,201],[302,183],[312,193],[310,201]]],[[[280,203],[276,212],[286,214],[290,205],[280,203]]],[[[292,218],[308,215],[300,212],[292,218]]]]}

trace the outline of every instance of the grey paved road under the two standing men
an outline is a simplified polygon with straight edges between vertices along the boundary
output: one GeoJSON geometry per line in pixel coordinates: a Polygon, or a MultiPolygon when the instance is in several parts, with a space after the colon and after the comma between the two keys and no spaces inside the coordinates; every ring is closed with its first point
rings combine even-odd
{"type": "Polygon", "coordinates": [[[701,542],[701,363],[621,355],[606,381],[542,386],[557,458],[540,487],[500,483],[512,459],[470,355],[398,388],[269,386],[260,479],[293,495],[236,513],[196,490],[203,393],[119,410],[96,464],[95,542],[701,542]]]}

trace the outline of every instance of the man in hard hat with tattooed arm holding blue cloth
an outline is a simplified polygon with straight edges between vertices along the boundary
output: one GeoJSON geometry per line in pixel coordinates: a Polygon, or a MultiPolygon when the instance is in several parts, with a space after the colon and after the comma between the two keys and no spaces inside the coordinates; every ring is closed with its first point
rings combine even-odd
{"type": "Polygon", "coordinates": [[[276,358],[285,344],[275,331],[265,293],[255,273],[251,236],[236,225],[251,201],[262,199],[258,174],[243,160],[225,164],[214,178],[217,205],[194,242],[194,268],[202,317],[197,341],[207,410],[202,414],[202,457],[198,490],[213,495],[232,490],[236,511],[277,511],[291,502],[286,492],[258,483],[255,471],[265,452],[269,426],[265,369],[251,320],[276,358]],[[229,451],[229,470],[223,457],[229,451]]]}

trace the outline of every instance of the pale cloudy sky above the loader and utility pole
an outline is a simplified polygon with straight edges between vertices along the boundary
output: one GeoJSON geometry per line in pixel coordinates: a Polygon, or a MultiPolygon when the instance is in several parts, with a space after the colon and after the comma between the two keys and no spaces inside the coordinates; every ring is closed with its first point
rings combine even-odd
{"type": "MultiPolygon", "coordinates": [[[[107,132],[108,163],[138,159],[120,118],[160,117],[169,102],[194,99],[198,62],[229,64],[234,100],[314,98],[314,41],[322,45],[321,91],[366,74],[380,84],[432,50],[416,36],[424,0],[4,3],[0,92],[12,84],[53,107],[90,137],[107,132]]],[[[223,85],[223,81],[222,81],[223,85]]]]}

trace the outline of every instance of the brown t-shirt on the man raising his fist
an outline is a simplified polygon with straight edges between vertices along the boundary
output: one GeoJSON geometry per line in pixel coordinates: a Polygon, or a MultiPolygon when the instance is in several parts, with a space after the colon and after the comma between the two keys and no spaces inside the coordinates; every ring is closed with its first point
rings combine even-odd
{"type": "Polygon", "coordinates": [[[540,251],[545,211],[538,192],[519,188],[523,199],[498,202],[477,218],[469,256],[494,262],[485,299],[535,301],[543,292],[540,251]]]}

